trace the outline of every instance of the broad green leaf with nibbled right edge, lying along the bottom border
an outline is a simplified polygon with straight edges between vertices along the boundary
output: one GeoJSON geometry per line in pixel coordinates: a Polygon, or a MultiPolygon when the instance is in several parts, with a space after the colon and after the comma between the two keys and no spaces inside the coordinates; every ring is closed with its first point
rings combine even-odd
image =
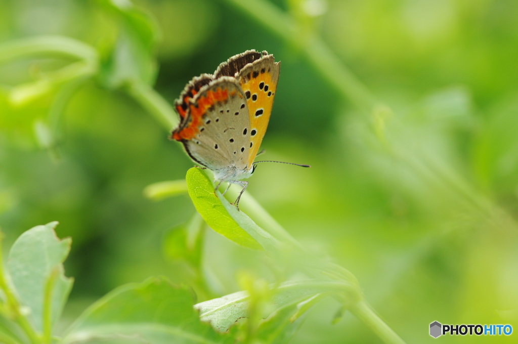
{"type": "Polygon", "coordinates": [[[139,342],[221,343],[231,340],[199,320],[193,295],[165,278],[123,285],[90,306],[63,342],[133,337],[139,342]]]}

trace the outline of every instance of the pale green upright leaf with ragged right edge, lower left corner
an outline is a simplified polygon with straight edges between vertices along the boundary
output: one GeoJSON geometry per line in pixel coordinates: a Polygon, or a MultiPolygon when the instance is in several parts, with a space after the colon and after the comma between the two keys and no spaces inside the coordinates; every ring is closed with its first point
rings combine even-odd
{"type": "Polygon", "coordinates": [[[73,279],[64,275],[63,261],[71,240],[60,240],[57,222],[36,226],[23,233],[9,251],[7,267],[27,318],[39,332],[50,334],[59,319],[72,288],[73,279]]]}

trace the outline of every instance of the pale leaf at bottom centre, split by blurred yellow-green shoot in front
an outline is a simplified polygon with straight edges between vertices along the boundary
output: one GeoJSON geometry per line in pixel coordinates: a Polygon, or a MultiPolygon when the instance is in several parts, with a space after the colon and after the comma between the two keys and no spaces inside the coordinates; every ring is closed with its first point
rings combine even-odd
{"type": "MultiPolygon", "coordinates": [[[[293,305],[292,317],[298,311],[298,304],[321,293],[343,295],[347,299],[355,298],[355,291],[350,283],[300,280],[284,282],[274,289],[270,303],[270,314],[274,311],[293,305]]],[[[238,319],[247,317],[250,305],[250,295],[247,292],[237,292],[194,305],[199,310],[200,319],[208,321],[218,331],[225,332],[238,319]]],[[[263,314],[267,318],[269,314],[263,314]]]]}

